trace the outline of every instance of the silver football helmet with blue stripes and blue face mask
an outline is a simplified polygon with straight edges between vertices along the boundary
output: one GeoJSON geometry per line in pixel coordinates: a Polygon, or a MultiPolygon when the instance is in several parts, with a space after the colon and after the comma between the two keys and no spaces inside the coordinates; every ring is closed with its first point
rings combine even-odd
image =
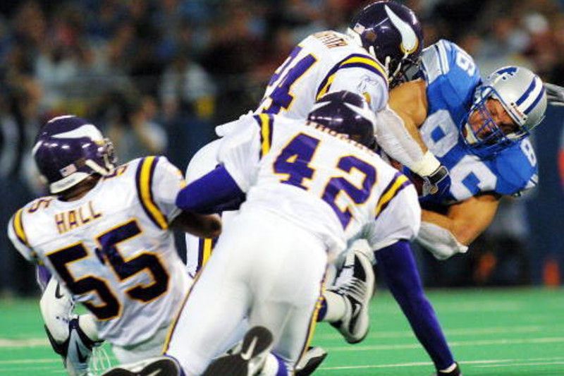
{"type": "Polygon", "coordinates": [[[505,66],[491,73],[474,92],[474,103],[462,119],[462,135],[470,150],[479,157],[491,157],[523,138],[544,119],[546,90],[538,75],[527,68],[505,66]],[[516,127],[503,131],[486,107],[496,99],[507,111],[516,127]],[[470,116],[478,111],[482,126],[472,128],[470,116]]]}

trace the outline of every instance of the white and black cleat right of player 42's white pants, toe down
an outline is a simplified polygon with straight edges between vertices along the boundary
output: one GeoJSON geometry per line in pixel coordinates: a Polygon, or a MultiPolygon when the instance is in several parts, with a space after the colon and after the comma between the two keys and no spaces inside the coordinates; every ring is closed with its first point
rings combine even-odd
{"type": "Polygon", "coordinates": [[[374,270],[367,255],[353,250],[353,274],[337,286],[328,289],[345,301],[345,315],[331,322],[349,344],[357,344],[368,334],[370,317],[368,309],[374,293],[374,270]]]}

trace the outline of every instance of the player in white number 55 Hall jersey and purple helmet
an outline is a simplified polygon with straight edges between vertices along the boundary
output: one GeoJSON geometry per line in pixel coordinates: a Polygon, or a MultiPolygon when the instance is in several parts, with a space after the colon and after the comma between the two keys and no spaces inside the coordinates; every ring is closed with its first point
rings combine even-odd
{"type": "Polygon", "coordinates": [[[176,207],[185,181],[165,157],[116,166],[111,142],[76,116],[47,122],[32,152],[51,195],[18,210],[8,235],[44,282],[52,274],[42,314],[68,373],[87,375],[104,339],[122,362],[159,355],[191,284],[171,226],[213,237],[219,218],[176,207]],[[72,315],[74,302],[90,314],[72,315]]]}

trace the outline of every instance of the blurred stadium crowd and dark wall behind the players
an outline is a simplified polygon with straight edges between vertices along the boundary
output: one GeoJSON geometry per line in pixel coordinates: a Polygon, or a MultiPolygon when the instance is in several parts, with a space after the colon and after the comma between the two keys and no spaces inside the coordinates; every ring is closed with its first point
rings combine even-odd
{"type": "MultiPolygon", "coordinates": [[[[513,63],[564,85],[564,0],[400,2],[419,16],[427,45],[453,40],[482,75],[513,63]]],[[[30,157],[44,121],[83,116],[109,135],[122,162],[165,154],[185,169],[214,139],[214,126],[255,109],[295,44],[319,30],[344,31],[367,3],[0,1],[0,295],[36,291],[4,229],[18,207],[45,193],[30,157]]],[[[561,283],[563,115],[549,109],[534,136],[539,188],[504,200],[469,255],[439,264],[420,253],[427,285],[561,283]]]]}

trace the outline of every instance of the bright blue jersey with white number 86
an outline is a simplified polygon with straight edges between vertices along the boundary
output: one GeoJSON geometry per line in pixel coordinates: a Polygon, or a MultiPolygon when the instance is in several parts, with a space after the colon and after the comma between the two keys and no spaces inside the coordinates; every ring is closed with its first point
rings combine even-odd
{"type": "Polygon", "coordinates": [[[472,154],[462,139],[462,119],[480,83],[478,67],[470,55],[441,40],[424,49],[422,72],[429,109],[420,131],[452,178],[448,194],[428,196],[428,201],[460,202],[480,193],[515,195],[537,184],[537,157],[528,138],[490,159],[472,154]]]}

